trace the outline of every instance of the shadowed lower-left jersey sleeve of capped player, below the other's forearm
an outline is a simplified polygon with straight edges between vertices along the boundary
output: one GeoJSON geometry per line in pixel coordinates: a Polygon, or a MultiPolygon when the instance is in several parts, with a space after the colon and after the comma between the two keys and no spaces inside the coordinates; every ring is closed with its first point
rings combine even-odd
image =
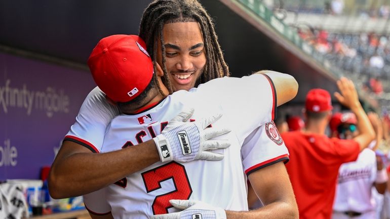
{"type": "Polygon", "coordinates": [[[83,196],[85,208],[95,215],[111,213],[111,206],[107,201],[107,187],[83,196]]]}

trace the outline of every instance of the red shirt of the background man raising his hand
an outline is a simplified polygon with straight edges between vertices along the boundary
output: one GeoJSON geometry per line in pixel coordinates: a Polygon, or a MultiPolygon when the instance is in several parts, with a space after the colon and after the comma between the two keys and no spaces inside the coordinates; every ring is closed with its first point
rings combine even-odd
{"type": "Polygon", "coordinates": [[[283,133],[282,138],[290,153],[286,168],[299,218],[330,219],[338,169],[342,163],[358,158],[359,144],[299,131],[283,133]]]}

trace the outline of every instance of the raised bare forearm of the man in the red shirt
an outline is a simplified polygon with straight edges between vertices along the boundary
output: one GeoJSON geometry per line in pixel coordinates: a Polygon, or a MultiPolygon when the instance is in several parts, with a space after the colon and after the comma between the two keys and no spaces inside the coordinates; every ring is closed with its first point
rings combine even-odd
{"type": "Polygon", "coordinates": [[[360,132],[360,134],[355,137],[354,140],[359,143],[360,149],[363,150],[374,140],[374,128],[372,127],[371,122],[360,103],[357,103],[355,106],[351,107],[351,110],[357,117],[357,126],[360,132]]]}

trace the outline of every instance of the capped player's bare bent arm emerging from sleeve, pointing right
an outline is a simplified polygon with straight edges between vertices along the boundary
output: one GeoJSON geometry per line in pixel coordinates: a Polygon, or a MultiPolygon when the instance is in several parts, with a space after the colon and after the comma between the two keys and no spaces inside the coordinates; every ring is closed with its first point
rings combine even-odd
{"type": "Polygon", "coordinates": [[[272,80],[278,106],[292,100],[298,93],[298,82],[289,74],[269,70],[258,71],[255,74],[266,74],[272,80]]]}

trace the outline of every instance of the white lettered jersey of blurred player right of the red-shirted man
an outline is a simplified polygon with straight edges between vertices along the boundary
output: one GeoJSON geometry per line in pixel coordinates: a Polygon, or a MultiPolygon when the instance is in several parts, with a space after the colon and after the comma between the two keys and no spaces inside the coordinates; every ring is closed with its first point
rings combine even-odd
{"type": "Polygon", "coordinates": [[[376,179],[375,152],[364,149],[354,162],[340,166],[333,210],[338,212],[374,211],[371,189],[376,179]]]}

